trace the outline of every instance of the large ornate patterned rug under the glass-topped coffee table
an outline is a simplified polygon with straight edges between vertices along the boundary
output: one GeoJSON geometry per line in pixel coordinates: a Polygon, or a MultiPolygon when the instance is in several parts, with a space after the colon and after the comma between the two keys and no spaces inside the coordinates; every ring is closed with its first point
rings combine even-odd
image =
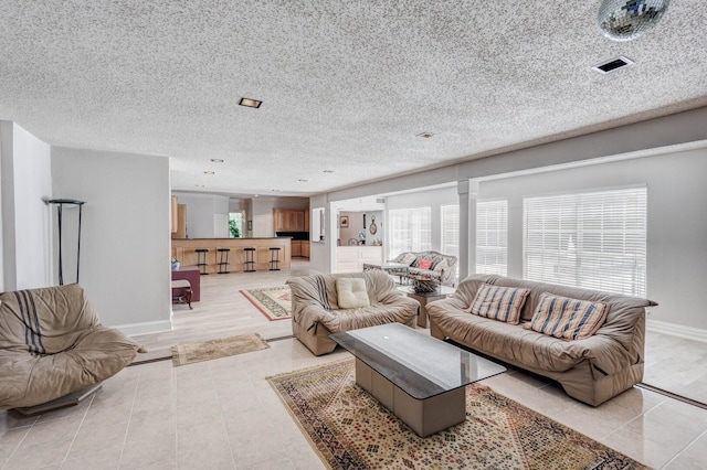
{"type": "Polygon", "coordinates": [[[331,469],[645,469],[484,385],[466,421],[421,438],[355,384],[354,360],[268,378],[331,469]]]}

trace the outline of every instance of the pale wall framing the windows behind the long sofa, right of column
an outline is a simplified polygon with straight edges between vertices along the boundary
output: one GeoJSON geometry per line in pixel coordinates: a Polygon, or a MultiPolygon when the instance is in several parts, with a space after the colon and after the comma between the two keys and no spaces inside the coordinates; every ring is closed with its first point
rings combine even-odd
{"type": "Polygon", "coordinates": [[[647,184],[651,319],[707,330],[707,149],[479,183],[479,199],[508,200],[508,276],[523,277],[523,199],[647,184]]]}

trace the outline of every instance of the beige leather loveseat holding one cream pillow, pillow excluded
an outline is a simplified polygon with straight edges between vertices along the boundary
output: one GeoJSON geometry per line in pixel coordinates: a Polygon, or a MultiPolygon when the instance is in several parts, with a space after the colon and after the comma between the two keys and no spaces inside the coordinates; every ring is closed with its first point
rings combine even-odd
{"type": "Polygon", "coordinates": [[[420,303],[400,292],[382,270],[306,276],[289,279],[292,289],[292,331],[315,355],[334,351],[331,333],[384,323],[415,324],[420,303]],[[336,280],[362,278],[370,306],[341,309],[336,280]]]}

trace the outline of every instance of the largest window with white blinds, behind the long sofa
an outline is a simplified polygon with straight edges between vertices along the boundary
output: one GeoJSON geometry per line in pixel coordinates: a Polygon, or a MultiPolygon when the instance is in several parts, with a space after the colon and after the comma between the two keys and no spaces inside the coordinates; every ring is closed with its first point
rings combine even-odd
{"type": "Polygon", "coordinates": [[[526,197],[524,277],[646,295],[646,188],[526,197]]]}

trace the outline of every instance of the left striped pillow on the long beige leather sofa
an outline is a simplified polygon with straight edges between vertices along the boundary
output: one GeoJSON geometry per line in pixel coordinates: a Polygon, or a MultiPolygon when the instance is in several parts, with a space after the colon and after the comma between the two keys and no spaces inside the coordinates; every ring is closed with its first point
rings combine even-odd
{"type": "Polygon", "coordinates": [[[526,302],[528,293],[530,293],[530,289],[482,284],[474,296],[469,313],[518,324],[520,309],[526,302]]]}

